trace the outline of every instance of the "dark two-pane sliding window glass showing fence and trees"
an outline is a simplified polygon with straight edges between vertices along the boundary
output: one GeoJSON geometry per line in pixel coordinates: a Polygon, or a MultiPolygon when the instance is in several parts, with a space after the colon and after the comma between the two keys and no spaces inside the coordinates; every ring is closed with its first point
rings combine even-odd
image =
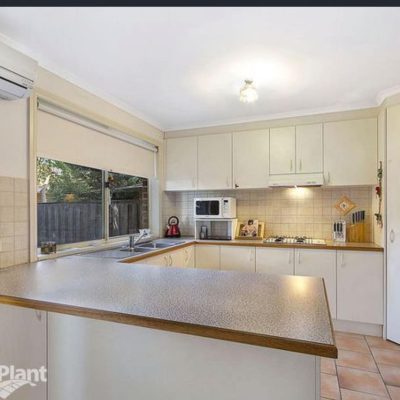
{"type": "Polygon", "coordinates": [[[42,157],[36,165],[38,247],[107,240],[149,227],[148,179],[42,157]]]}

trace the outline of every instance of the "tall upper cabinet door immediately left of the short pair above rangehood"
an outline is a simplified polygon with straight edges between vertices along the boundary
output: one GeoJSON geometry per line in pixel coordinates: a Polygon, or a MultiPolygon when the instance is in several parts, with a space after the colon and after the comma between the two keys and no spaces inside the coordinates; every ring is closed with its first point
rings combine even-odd
{"type": "Polygon", "coordinates": [[[233,134],[233,183],[235,188],[268,187],[268,160],[268,129],[233,134]]]}

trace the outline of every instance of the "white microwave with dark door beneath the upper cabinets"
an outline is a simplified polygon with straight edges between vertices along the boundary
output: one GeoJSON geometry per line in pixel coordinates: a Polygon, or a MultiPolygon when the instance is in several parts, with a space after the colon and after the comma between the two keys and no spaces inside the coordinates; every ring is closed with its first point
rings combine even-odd
{"type": "Polygon", "coordinates": [[[236,199],[209,197],[194,199],[195,218],[236,218],[236,199]]]}

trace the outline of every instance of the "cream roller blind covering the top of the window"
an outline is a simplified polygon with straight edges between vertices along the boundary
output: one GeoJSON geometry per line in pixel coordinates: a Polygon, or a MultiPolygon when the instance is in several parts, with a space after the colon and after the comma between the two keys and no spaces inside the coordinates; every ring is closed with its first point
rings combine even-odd
{"type": "Polygon", "coordinates": [[[50,103],[38,102],[37,155],[128,175],[156,175],[157,147],[50,103]]]}

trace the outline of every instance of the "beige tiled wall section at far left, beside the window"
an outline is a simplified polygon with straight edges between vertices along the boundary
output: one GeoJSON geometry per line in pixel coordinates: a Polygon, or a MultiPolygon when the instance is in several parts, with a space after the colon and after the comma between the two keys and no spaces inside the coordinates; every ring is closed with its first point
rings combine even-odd
{"type": "Polygon", "coordinates": [[[0,268],[28,259],[28,180],[0,177],[0,268]]]}

